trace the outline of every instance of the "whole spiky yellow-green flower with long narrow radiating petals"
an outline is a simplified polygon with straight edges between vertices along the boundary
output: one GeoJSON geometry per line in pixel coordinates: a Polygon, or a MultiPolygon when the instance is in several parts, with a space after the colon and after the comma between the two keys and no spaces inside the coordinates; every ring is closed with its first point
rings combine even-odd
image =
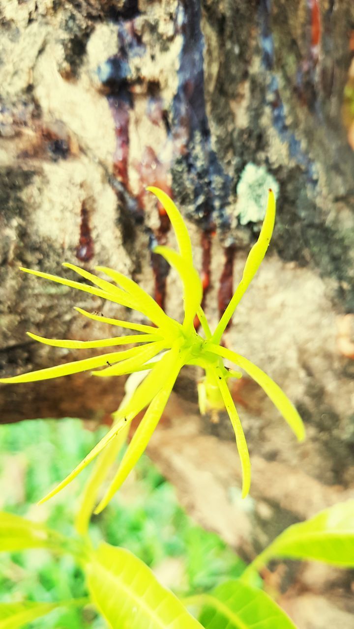
{"type": "Polygon", "coordinates": [[[55,347],[79,349],[113,347],[127,343],[135,344],[135,347],[118,352],[103,353],[93,358],[77,360],[57,367],[49,367],[49,369],[42,369],[29,374],[23,374],[22,376],[1,379],[0,382],[33,382],[58,376],[66,376],[67,374],[74,374],[88,369],[94,369],[92,373],[96,377],[121,376],[123,374],[147,370],[147,376],[140,382],[139,386],[137,386],[133,396],[128,399],[127,403],[123,403],[117,413],[115,413],[115,423],[105,437],[101,439],[96,447],[91,450],[87,457],[77,465],[76,469],[74,469],[59,486],[53,491],[50,491],[50,493],[43,498],[43,501],[54,496],[60,489],[71,482],[108,443],[111,443],[112,440],[117,437],[117,434],[123,430],[142,409],[146,408],[145,415],[140,421],[139,427],[135,431],[134,437],[123,456],[118,472],[111,482],[110,487],[108,487],[98,509],[96,509],[96,513],[101,511],[122,485],[123,481],[125,481],[130,470],[132,470],[135,463],[144,452],[161,418],[163,409],[173,389],[174,382],[183,365],[198,365],[205,370],[205,379],[198,386],[201,411],[205,412],[208,408],[219,409],[223,404],[229,414],[235,431],[237,449],[241,459],[243,497],[249,492],[251,464],[243,428],[229,387],[227,386],[227,380],[230,377],[240,377],[241,374],[226,369],[226,367],[224,367],[224,359],[241,367],[241,369],[260,384],[280,413],[282,413],[283,418],[287,421],[288,425],[290,425],[290,428],[292,428],[299,440],[302,440],[305,436],[304,425],[299,413],[297,413],[297,410],[287,396],[285,396],[282,389],[248,359],[219,344],[226,330],[227,323],[229,323],[237,304],[243,297],[244,292],[260,267],[261,261],[270,243],[275,221],[275,197],[273,192],[271,190],[269,191],[265,220],[263,221],[258,241],[249,252],[241,282],[239,282],[224,315],[222,315],[215,331],[212,333],[205,313],[203,313],[200,306],[202,301],[202,284],[198,272],[193,266],[190,237],[183,218],[173,201],[171,201],[165,192],[156,187],[149,187],[147,190],[153,192],[160,203],[163,204],[176,234],[179,252],[161,246],[156,247],[155,252],[162,255],[168,263],[176,269],[180,276],[183,285],[185,313],[183,323],[179,323],[167,316],[149,294],[140,288],[132,279],[123,276],[115,270],[106,267],[96,267],[98,272],[103,272],[114,282],[112,283],[111,281],[96,277],[88,271],[72,264],[64,264],[64,266],[76,271],[77,274],[88,279],[93,284],[93,286],[88,286],[87,284],[52,276],[40,271],[22,269],[26,273],[59,282],[59,284],[71,286],[80,291],[86,291],[103,299],[108,299],[109,301],[137,310],[156,326],[152,327],[150,325],[141,325],[106,318],[100,315],[91,315],[81,308],[76,308],[81,315],[87,316],[90,319],[109,323],[110,325],[119,326],[121,328],[128,328],[138,332],[138,334],[106,338],[100,341],[83,342],[52,340],[29,333],[31,338],[55,347]],[[195,315],[198,315],[202,324],[203,337],[195,331],[193,326],[195,315]],[[104,367],[104,369],[96,371],[95,369],[97,367],[104,367]]]}

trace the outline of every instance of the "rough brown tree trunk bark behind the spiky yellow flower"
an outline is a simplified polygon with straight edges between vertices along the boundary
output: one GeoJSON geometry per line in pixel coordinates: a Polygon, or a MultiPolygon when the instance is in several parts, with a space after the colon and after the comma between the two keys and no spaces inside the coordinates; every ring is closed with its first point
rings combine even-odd
{"type": "MultiPolygon", "coordinates": [[[[278,191],[271,248],[224,342],[283,387],[307,440],[297,445],[243,378],[233,394],[253,489],[241,503],[231,426],[225,416],[218,425],[197,418],[195,374],[186,371],[169,413],[178,422],[150,448],[195,517],[250,556],[255,540],[263,546],[283,525],[349,496],[354,481],[354,126],[343,117],[354,4],[0,0],[0,23],[2,374],[78,357],[31,342],[26,330],[110,333],[74,305],[126,314],[22,276],[19,265],[57,274],[64,260],[110,265],[180,315],[180,286],[151,255],[156,240],[173,242],[144,192],[156,184],[188,220],[215,323],[260,228],[264,189],[278,191]],[[224,496],[222,516],[210,484],[224,496]]],[[[100,420],[118,406],[122,381],[97,380],[3,386],[0,421],[100,420]]]]}

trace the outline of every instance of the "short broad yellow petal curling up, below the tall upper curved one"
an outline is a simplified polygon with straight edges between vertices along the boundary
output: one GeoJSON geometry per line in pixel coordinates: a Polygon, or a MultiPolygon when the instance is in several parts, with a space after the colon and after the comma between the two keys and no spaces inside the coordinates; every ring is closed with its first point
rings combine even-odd
{"type": "Polygon", "coordinates": [[[169,247],[158,246],[154,249],[154,253],[159,253],[167,260],[171,267],[178,272],[183,284],[183,301],[185,307],[185,320],[183,325],[191,327],[193,320],[197,314],[197,310],[202,303],[203,288],[197,271],[186,264],[185,260],[169,247]]]}

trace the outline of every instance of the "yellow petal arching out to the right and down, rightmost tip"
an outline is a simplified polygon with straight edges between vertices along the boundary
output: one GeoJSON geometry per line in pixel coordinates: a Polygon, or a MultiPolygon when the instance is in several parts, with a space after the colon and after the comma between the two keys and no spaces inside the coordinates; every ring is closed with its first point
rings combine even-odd
{"type": "Polygon", "coordinates": [[[236,352],[232,352],[228,350],[226,347],[220,347],[220,345],[210,345],[208,347],[211,352],[222,356],[228,360],[231,360],[234,364],[244,369],[246,373],[253,378],[257,384],[262,387],[263,391],[267,394],[268,398],[271,399],[274,406],[278,409],[278,411],[282,414],[285,421],[287,421],[288,425],[294,431],[296,437],[299,441],[303,441],[305,438],[305,426],[300,418],[299,413],[297,412],[294,404],[290,402],[290,399],[285,395],[285,393],[280,389],[280,386],[276,384],[269,376],[265,374],[264,371],[257,367],[256,365],[237,354],[236,352]]]}

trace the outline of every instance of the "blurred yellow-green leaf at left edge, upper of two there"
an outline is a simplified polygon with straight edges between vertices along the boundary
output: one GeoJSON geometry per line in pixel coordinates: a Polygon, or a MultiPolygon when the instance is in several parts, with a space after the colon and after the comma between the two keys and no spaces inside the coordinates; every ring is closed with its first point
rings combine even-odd
{"type": "Polygon", "coordinates": [[[25,548],[64,550],[63,542],[64,538],[57,532],[41,524],[0,511],[0,552],[25,548]]]}

